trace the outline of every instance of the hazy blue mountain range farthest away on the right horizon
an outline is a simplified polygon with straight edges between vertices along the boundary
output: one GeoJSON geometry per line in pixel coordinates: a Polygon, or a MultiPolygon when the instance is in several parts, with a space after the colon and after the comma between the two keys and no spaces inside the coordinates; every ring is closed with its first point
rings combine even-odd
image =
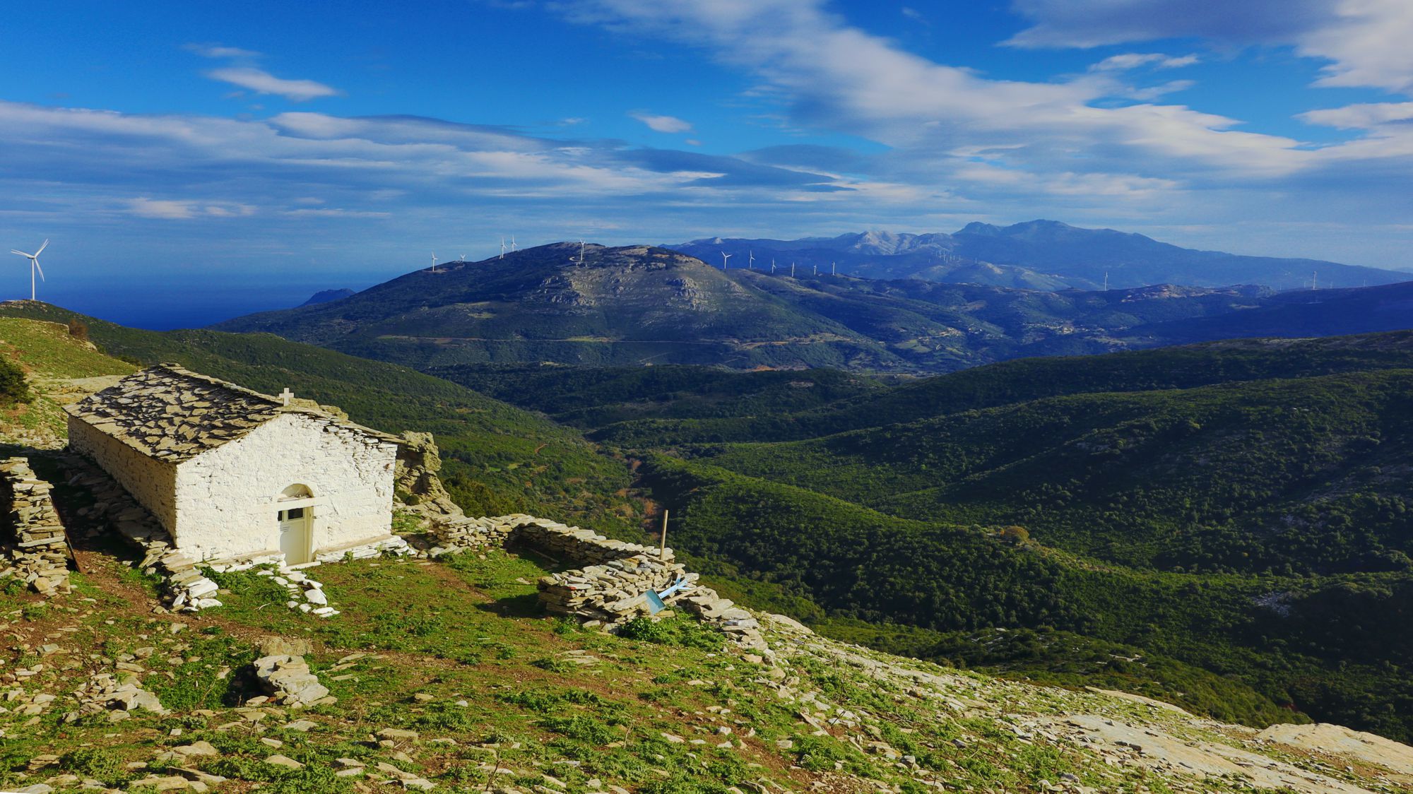
{"type": "Polygon", "coordinates": [[[721,251],[733,254],[733,266],[756,264],[821,271],[834,264],[844,273],[869,278],[927,278],[945,283],[991,284],[1029,290],[1181,284],[1225,287],[1256,284],[1294,290],[1318,283],[1331,285],[1392,284],[1413,280],[1413,273],[1379,270],[1310,259],[1277,259],[1202,251],[1160,243],[1143,235],[1113,229],[1080,229],[1057,220],[1030,220],[1013,226],[968,223],[961,230],[931,235],[863,232],[838,237],[702,239],[673,250],[709,263],[721,251]]]}

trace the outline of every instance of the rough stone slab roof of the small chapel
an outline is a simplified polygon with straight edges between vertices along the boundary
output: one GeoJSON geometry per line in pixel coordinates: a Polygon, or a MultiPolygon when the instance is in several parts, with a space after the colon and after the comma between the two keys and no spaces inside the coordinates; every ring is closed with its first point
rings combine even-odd
{"type": "Polygon", "coordinates": [[[377,441],[398,442],[394,435],[315,408],[285,405],[278,397],[178,365],[144,369],[64,410],[138,452],[168,462],[195,458],[288,413],[318,417],[377,441]]]}

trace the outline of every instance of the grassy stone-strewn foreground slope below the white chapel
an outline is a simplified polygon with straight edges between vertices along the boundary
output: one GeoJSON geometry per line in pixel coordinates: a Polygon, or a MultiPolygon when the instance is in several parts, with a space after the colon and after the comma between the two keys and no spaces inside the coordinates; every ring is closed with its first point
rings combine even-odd
{"type": "MultiPolygon", "coordinates": [[[[0,712],[3,788],[65,773],[124,787],[175,774],[178,764],[158,757],[170,747],[209,742],[216,754],[181,766],[229,778],[220,790],[270,794],[367,791],[393,777],[338,777],[335,770],[349,764],[338,759],[370,770],[387,764],[432,780],[438,791],[466,794],[492,787],[565,794],[937,790],[918,778],[1031,794],[1051,790],[1048,781],[1061,776],[1130,794],[1249,791],[1239,780],[1200,783],[1111,766],[1089,746],[1022,730],[1029,715],[1082,713],[1161,725],[1186,740],[1232,742],[1211,723],[882,654],[839,657],[821,640],[777,637],[788,656],[773,671],[722,653],[691,623],[664,632],[666,643],[584,632],[536,615],[527,582],[544,568],[503,552],[321,567],[317,575],[342,610],[331,620],[284,609],[283,591],[253,574],[222,576],[220,609],[153,616],[148,583],[136,572],[102,554],[85,552],[85,559],[73,596],[47,605],[3,596],[0,626],[16,644],[0,654],[37,671],[17,688],[25,699],[35,692],[59,698],[34,715],[0,712]],[[305,658],[338,701],[312,709],[237,708],[257,694],[246,670],[261,634],[308,639],[305,658]],[[41,657],[41,644],[58,650],[41,657]],[[66,721],[69,692],[90,672],[113,672],[114,660],[131,660],[124,664],[136,670],[120,675],[140,681],[171,712],[134,711],[120,723],[106,715],[66,721]],[[373,740],[386,728],[415,733],[373,740]],[[264,763],[276,753],[302,769],[264,763]],[[899,762],[904,753],[910,763],[899,762]]],[[[1325,766],[1317,769],[1331,770],[1332,757],[1318,760],[1325,766]]],[[[1378,770],[1325,773],[1368,783],[1378,770]]]]}

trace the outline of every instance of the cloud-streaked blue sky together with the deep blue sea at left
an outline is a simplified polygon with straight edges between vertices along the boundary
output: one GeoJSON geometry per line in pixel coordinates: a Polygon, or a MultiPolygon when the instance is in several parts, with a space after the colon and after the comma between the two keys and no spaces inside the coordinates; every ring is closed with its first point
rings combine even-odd
{"type": "Polygon", "coordinates": [[[52,239],[42,298],[150,326],[502,235],[1053,218],[1413,266],[1407,0],[398,6],[11,0],[6,247],[52,239]]]}

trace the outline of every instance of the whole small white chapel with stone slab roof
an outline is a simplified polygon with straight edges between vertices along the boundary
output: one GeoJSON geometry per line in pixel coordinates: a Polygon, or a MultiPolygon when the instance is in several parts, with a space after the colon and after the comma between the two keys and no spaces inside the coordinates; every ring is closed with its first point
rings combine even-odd
{"type": "Polygon", "coordinates": [[[188,557],[285,565],[390,541],[397,438],[160,365],[66,405],[93,459],[188,557]]]}

